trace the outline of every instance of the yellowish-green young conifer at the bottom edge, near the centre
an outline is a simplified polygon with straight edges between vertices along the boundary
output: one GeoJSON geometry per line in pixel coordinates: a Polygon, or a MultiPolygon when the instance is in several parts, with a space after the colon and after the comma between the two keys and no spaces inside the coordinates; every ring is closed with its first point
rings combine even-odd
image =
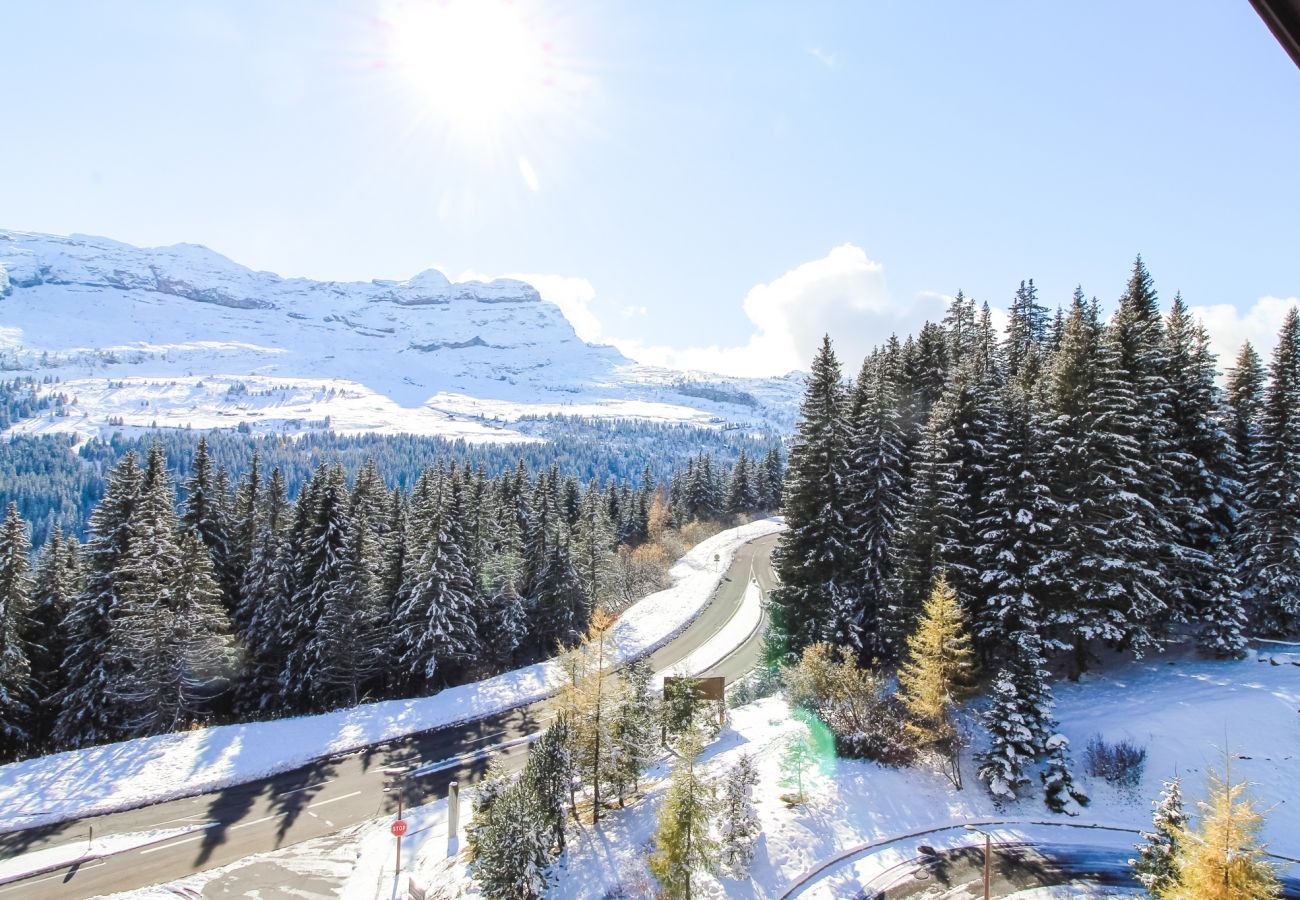
{"type": "Polygon", "coordinates": [[[692,877],[718,866],[718,840],[710,831],[715,791],[698,770],[698,756],[699,739],[688,732],[656,817],[650,873],[671,900],[689,900],[692,877]]]}

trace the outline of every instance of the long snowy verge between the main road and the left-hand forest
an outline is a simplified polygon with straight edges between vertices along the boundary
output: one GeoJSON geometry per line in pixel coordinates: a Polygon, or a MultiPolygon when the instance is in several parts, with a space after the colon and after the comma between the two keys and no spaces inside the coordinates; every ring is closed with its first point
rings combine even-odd
{"type": "MultiPolygon", "coordinates": [[[[672,587],[634,603],[615,623],[619,661],[675,637],[708,602],[736,551],[781,528],[776,519],[753,522],[710,537],[677,561],[670,572],[672,587]]],[[[523,706],[554,693],[563,682],[560,661],[551,659],[430,697],[196,728],[0,766],[0,832],[239,784],[320,757],[523,706]]]]}

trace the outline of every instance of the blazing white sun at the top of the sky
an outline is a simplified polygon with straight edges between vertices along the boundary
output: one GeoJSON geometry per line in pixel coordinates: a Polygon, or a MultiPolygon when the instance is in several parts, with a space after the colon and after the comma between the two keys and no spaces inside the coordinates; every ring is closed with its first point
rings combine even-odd
{"type": "Polygon", "coordinates": [[[554,60],[511,0],[407,0],[387,16],[390,61],[445,127],[490,137],[542,116],[554,60]]]}

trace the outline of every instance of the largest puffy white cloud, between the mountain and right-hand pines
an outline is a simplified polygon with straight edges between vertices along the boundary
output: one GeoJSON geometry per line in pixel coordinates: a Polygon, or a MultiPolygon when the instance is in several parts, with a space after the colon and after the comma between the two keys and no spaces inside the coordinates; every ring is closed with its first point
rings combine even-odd
{"type": "Polygon", "coordinates": [[[841,245],[822,259],[798,265],[745,295],[745,315],[754,325],[740,346],[646,346],[611,341],[638,362],[722,375],[771,376],[806,369],[823,334],[831,334],[848,372],[892,333],[904,336],[926,319],[942,316],[939,295],[900,303],[885,286],[884,267],[862,248],[841,245]]]}

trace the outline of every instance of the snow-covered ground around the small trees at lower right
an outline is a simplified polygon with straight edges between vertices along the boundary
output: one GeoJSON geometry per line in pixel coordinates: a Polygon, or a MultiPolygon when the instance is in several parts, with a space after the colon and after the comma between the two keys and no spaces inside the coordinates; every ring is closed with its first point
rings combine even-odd
{"type": "MultiPolygon", "coordinates": [[[[1161,780],[1175,769],[1183,775],[1190,802],[1204,796],[1206,766],[1222,769],[1218,748],[1223,745],[1225,730],[1234,753],[1234,779],[1252,782],[1254,795],[1268,809],[1264,838],[1270,849],[1282,856],[1300,856],[1296,788],[1300,786],[1296,750],[1300,655],[1264,654],[1242,662],[1212,662],[1170,654],[1115,665],[1079,683],[1058,684],[1057,697],[1062,731],[1074,748],[1076,779],[1093,799],[1076,818],[1049,813],[1036,784],[1030,796],[1000,808],[974,778],[971,753],[980,749],[978,744],[963,760],[965,791],[954,791],[941,775],[923,769],[824,760],[811,779],[810,802],[788,808],[780,800],[780,795],[789,792],[779,783],[781,750],[786,735],[805,726],[790,717],[780,698],[731,710],[728,727],[706,748],[703,761],[710,774],[720,775],[740,753],[755,754],[762,778],[755,805],[763,835],[750,879],[702,877],[697,896],[781,896],[803,873],[861,844],[965,822],[1024,823],[1002,826],[1006,839],[1040,835],[1057,843],[1127,845],[1128,838],[1122,834],[1097,830],[1079,832],[1086,835],[1083,839],[1066,839],[1060,834],[1066,828],[1031,823],[1148,827],[1150,801],[1157,797],[1161,780]],[[1092,734],[1112,741],[1131,737],[1147,747],[1145,775],[1139,788],[1114,788],[1083,774],[1083,747],[1092,734]]],[[[666,789],[667,775],[667,762],[662,762],[649,775],[646,799],[612,813],[599,830],[573,831],[571,849],[556,867],[555,896],[601,897],[620,884],[627,896],[649,896],[645,891],[653,882],[642,860],[651,847],[654,808],[666,789]]],[[[966,835],[953,845],[978,843],[983,839],[966,835]]],[[[915,848],[909,845],[909,849],[915,848]]],[[[451,896],[474,896],[463,854],[450,865],[442,858],[426,858],[421,877],[447,888],[451,896]]],[[[801,896],[850,896],[855,883],[850,860],[801,896]]]]}

